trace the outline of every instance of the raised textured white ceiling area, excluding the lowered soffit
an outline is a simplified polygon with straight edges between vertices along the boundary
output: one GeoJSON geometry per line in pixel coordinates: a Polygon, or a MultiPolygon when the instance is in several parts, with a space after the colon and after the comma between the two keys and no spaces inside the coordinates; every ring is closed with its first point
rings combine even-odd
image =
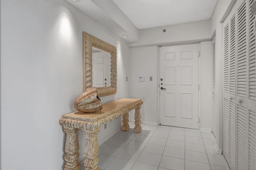
{"type": "Polygon", "coordinates": [[[138,28],[208,20],[217,0],[112,0],[138,28]]]}

